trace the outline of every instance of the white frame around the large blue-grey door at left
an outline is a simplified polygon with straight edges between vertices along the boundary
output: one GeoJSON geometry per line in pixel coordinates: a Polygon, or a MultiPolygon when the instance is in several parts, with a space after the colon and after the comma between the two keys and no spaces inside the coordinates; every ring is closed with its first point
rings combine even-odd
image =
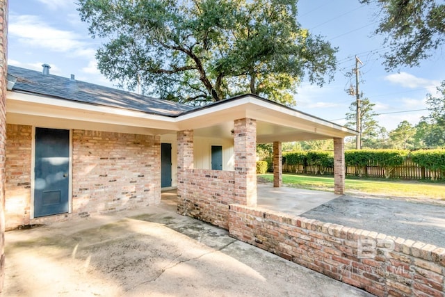
{"type": "MultiPolygon", "coordinates": [[[[35,218],[34,216],[34,186],[35,186],[35,126],[33,126],[32,131],[32,141],[31,141],[31,205],[30,205],[30,216],[31,219],[35,218]]],[[[68,130],[70,131],[70,164],[68,167],[68,214],[72,213],[72,129],[63,129],[63,128],[53,128],[53,127],[42,127],[39,126],[37,128],[47,128],[47,129],[60,129],[60,130],[68,130]]],[[[66,213],[65,213],[66,214],[66,213]]],[[[53,214],[50,216],[58,216],[60,214],[53,214]]],[[[41,218],[41,217],[39,217],[41,218]]]]}

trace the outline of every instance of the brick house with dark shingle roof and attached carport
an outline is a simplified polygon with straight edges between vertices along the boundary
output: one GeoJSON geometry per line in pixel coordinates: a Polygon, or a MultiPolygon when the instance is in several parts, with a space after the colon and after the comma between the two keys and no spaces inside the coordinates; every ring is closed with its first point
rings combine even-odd
{"type": "MultiPolygon", "coordinates": [[[[344,156],[337,154],[343,154],[343,138],[355,134],[254,95],[193,108],[57,77],[42,66],[43,72],[8,70],[13,87],[6,111],[7,229],[158,204],[165,173],[161,143],[171,145],[166,162],[171,164],[170,186],[177,187],[179,214],[227,229],[229,204],[257,204],[257,143],[274,143],[274,159],[280,160],[282,141],[334,138],[341,168],[344,156]],[[62,158],[67,161],[40,157],[42,129],[51,135],[69,133],[69,156],[62,158]],[[220,168],[213,168],[213,158],[219,158],[220,168]],[[69,167],[38,177],[40,159],[53,169],[60,162],[69,167]],[[45,188],[60,180],[67,182],[63,191],[45,188]],[[48,200],[40,201],[38,191],[48,200]],[[65,202],[60,198],[64,191],[65,202]],[[65,209],[36,211],[52,203],[65,203],[65,209]]],[[[281,170],[274,167],[275,186],[281,185],[281,170]]],[[[337,171],[336,191],[342,193],[344,174],[337,171]]]]}

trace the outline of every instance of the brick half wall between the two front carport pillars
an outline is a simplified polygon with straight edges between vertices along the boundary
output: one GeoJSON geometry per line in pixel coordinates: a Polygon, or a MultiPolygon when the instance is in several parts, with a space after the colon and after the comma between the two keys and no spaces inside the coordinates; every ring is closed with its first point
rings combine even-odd
{"type": "Polygon", "coordinates": [[[238,202],[234,194],[235,172],[208,169],[184,170],[178,214],[228,229],[229,204],[238,202]]]}

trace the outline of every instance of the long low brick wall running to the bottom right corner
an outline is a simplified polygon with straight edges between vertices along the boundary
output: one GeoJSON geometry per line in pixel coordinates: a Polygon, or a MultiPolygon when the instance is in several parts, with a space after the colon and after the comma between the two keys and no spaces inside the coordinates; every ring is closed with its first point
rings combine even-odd
{"type": "Polygon", "coordinates": [[[376,296],[444,296],[445,248],[240,204],[229,233],[376,296]]]}

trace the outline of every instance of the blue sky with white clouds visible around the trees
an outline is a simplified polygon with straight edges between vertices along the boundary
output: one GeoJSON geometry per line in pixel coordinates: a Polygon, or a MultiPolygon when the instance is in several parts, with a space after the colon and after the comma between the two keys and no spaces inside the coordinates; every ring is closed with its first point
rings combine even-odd
{"type": "MultiPolygon", "coordinates": [[[[325,120],[344,124],[345,113],[355,97],[346,94],[355,67],[355,55],[361,66],[360,90],[375,104],[376,118],[388,130],[407,120],[415,125],[426,109],[427,93],[435,93],[445,79],[442,51],[421,63],[420,67],[386,72],[380,54],[382,37],[372,33],[378,26],[372,6],[358,0],[300,0],[298,22],[312,33],[323,35],[339,47],[338,70],[334,81],[323,88],[303,81],[296,95],[296,109],[325,120]],[[406,112],[411,111],[411,112],[406,112]]],[[[76,5],[69,0],[10,0],[8,64],[34,70],[51,65],[51,74],[113,86],[95,67],[95,51],[100,40],[90,38],[76,5]]],[[[352,77],[355,83],[355,77],[352,77]]]]}

